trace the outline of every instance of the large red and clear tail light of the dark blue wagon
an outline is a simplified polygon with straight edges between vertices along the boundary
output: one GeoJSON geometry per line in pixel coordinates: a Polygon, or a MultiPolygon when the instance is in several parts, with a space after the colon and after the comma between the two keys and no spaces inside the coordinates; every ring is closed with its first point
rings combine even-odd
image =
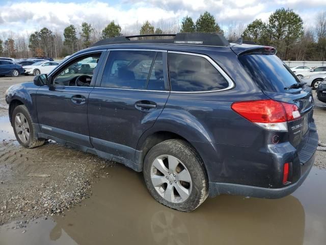
{"type": "Polygon", "coordinates": [[[287,131],[287,122],[301,117],[294,104],[274,100],[235,102],[232,110],[268,130],[287,131]]]}

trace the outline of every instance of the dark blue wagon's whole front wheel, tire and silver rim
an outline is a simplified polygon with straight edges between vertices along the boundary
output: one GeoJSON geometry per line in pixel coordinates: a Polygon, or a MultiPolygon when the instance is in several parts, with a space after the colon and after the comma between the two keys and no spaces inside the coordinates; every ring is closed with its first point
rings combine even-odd
{"type": "Polygon", "coordinates": [[[24,148],[35,148],[44,144],[45,139],[37,138],[31,114],[24,105],[17,106],[11,118],[16,139],[24,148]]]}

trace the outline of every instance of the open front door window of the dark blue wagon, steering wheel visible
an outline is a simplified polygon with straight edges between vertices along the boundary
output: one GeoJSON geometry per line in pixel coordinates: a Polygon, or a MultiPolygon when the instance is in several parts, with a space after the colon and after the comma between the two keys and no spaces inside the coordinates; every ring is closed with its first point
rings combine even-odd
{"type": "Polygon", "coordinates": [[[67,63],[53,80],[55,86],[89,87],[101,53],[82,56],[67,63]]]}

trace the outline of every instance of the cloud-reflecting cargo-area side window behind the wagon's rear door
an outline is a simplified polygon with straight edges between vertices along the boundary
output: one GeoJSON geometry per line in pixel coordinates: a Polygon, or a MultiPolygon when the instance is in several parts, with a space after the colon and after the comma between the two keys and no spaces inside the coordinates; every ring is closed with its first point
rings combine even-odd
{"type": "Polygon", "coordinates": [[[213,91],[229,83],[205,58],[169,53],[171,90],[180,92],[213,91]]]}

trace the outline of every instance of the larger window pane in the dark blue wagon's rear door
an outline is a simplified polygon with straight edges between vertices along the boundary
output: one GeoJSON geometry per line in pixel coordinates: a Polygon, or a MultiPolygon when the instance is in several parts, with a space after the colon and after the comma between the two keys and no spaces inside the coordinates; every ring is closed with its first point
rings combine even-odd
{"type": "Polygon", "coordinates": [[[151,51],[111,51],[101,87],[146,89],[155,55],[151,51]]]}

